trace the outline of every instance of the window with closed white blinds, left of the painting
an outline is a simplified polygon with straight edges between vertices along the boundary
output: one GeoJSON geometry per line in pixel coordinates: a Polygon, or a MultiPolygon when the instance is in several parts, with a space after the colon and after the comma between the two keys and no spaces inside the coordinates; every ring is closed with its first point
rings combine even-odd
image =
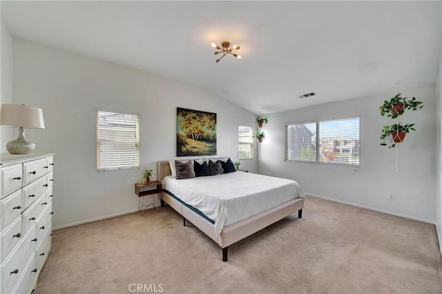
{"type": "Polygon", "coordinates": [[[97,171],[140,168],[140,116],[97,111],[97,171]]]}

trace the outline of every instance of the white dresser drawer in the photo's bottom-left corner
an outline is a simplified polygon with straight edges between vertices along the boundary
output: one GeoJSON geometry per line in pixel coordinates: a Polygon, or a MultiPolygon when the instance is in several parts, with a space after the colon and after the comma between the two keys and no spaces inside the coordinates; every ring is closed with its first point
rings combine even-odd
{"type": "MultiPolygon", "coordinates": [[[[22,243],[23,244],[23,243],[22,243]]],[[[12,288],[21,277],[26,263],[28,262],[30,255],[25,255],[21,251],[21,246],[12,252],[12,255],[1,264],[1,286],[3,290],[1,293],[11,293],[12,288]]]]}

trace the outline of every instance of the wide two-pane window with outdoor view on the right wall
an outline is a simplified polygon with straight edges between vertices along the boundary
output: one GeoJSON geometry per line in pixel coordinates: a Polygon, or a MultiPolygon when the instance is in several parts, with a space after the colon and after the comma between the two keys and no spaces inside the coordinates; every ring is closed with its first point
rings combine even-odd
{"type": "Polygon", "coordinates": [[[285,126],[285,160],[359,166],[359,117],[285,126]]]}

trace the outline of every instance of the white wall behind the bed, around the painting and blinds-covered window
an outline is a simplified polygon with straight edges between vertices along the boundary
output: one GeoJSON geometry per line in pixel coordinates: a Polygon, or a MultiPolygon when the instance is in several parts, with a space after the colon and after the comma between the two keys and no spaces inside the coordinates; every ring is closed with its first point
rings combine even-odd
{"type": "MultiPolygon", "coordinates": [[[[148,52],[146,52],[148,54],[148,52]]],[[[14,103],[44,109],[46,129],[28,130],[35,152],[54,152],[54,226],[113,216],[138,207],[134,183],[141,170],[96,171],[97,109],[137,112],[141,120],[141,167],[173,158],[176,108],[217,114],[219,156],[238,158],[238,125],[255,116],[227,101],[129,67],[14,39],[14,103]]],[[[241,166],[256,171],[256,160],[241,166]]],[[[151,202],[146,197],[145,202],[151,202]]]]}

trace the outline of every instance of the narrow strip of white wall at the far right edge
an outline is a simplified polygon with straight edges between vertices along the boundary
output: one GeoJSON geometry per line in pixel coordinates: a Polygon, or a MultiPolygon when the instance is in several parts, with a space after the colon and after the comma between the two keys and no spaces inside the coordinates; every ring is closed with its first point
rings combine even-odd
{"type": "Polygon", "coordinates": [[[436,98],[436,119],[437,119],[437,164],[436,164],[436,230],[439,236],[439,248],[442,253],[442,46],[441,59],[439,61],[439,72],[437,75],[437,98],[436,98]]]}

